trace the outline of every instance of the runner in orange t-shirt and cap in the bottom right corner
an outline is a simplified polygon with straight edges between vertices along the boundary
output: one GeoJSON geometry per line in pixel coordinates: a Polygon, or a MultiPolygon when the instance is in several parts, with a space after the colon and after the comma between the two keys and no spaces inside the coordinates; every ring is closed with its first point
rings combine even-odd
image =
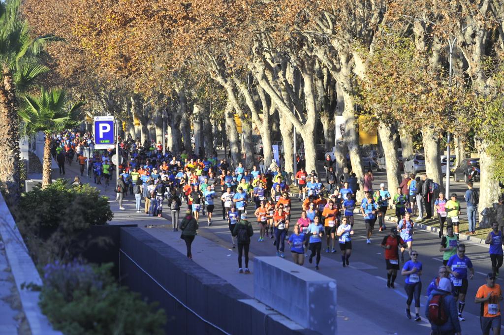
{"type": "Polygon", "coordinates": [[[480,324],[483,335],[500,334],[500,302],[502,301],[502,291],[500,285],[495,284],[497,277],[494,273],[486,275],[486,284],[479,287],[474,302],[481,304],[480,324]]]}

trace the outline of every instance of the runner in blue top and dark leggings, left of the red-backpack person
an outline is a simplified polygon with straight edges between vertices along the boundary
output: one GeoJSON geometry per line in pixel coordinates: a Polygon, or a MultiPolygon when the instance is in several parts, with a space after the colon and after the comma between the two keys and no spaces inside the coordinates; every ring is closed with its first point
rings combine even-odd
{"type": "Polygon", "coordinates": [[[422,292],[422,282],[420,276],[422,275],[422,263],[418,261],[418,252],[413,250],[411,252],[411,259],[408,260],[401,271],[401,275],[406,276],[404,290],[408,295],[406,300],[406,316],[411,319],[410,306],[415,297],[415,321],[421,321],[420,317],[420,293],[422,292]]]}

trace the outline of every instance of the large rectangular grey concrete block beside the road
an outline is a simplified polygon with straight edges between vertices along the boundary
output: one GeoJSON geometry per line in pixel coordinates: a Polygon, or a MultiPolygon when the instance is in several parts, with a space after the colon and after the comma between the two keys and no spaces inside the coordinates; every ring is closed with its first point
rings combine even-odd
{"type": "Polygon", "coordinates": [[[336,334],[336,281],[279,257],[254,258],[254,297],[301,326],[336,334]]]}

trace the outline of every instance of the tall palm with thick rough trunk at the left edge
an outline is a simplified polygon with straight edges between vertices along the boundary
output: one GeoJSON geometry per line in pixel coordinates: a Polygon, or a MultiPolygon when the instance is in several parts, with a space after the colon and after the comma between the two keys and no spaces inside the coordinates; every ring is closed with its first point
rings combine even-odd
{"type": "Polygon", "coordinates": [[[47,42],[54,35],[33,39],[19,14],[20,0],[0,2],[0,186],[11,204],[19,199],[19,118],[16,94],[49,71],[40,64],[47,42]]]}

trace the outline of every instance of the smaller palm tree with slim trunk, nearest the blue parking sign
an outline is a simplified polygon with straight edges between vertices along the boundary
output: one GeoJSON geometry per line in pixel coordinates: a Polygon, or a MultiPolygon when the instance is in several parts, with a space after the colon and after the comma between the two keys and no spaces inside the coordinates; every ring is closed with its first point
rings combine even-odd
{"type": "Polygon", "coordinates": [[[40,88],[39,95],[24,94],[22,108],[18,115],[23,120],[23,136],[34,135],[39,131],[45,134],[44,157],[42,163],[42,188],[51,183],[51,144],[54,133],[70,129],[79,124],[78,109],[84,101],[71,103],[62,89],[40,88]]]}

